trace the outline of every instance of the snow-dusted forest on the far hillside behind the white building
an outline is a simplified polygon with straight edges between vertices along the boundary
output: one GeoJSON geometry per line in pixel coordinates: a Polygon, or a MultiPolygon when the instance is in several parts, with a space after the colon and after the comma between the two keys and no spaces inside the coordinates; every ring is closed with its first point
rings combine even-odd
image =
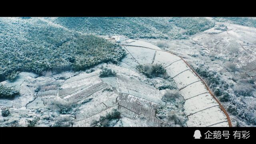
{"type": "Polygon", "coordinates": [[[214,26],[214,23],[206,18],[192,17],[60,17],[54,22],[79,32],[98,35],[122,34],[129,38],[184,39],[184,34],[195,34],[214,26]],[[184,29],[184,34],[180,32],[181,28],[184,29]]]}

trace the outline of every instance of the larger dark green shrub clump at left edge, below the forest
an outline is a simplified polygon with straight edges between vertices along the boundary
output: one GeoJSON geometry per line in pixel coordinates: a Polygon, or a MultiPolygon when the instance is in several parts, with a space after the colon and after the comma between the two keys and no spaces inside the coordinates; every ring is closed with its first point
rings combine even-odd
{"type": "Polygon", "coordinates": [[[3,84],[0,84],[0,98],[14,98],[18,96],[20,92],[16,88],[10,88],[3,84]]]}

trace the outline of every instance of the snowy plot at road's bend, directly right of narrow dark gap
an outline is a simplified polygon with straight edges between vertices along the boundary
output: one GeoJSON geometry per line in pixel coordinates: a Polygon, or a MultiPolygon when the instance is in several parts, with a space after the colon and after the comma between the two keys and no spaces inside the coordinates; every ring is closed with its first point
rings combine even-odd
{"type": "Polygon", "coordinates": [[[171,65],[173,62],[182,60],[180,57],[164,51],[156,51],[156,56],[153,64],[162,64],[164,67],[171,65]]]}

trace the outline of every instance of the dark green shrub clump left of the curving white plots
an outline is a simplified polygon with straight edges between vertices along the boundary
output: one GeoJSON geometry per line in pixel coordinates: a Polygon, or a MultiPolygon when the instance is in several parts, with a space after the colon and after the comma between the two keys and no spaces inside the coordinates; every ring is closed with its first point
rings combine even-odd
{"type": "Polygon", "coordinates": [[[161,64],[139,64],[136,68],[148,78],[166,75],[166,69],[161,64]]]}

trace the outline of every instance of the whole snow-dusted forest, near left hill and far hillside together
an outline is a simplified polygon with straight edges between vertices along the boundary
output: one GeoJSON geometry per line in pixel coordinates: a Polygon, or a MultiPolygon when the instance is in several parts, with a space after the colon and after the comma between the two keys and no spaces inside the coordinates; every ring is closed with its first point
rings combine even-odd
{"type": "Polygon", "coordinates": [[[0,18],[0,82],[22,71],[41,75],[117,63],[125,54],[122,47],[95,34],[183,39],[212,26],[206,18],[0,18]]]}

